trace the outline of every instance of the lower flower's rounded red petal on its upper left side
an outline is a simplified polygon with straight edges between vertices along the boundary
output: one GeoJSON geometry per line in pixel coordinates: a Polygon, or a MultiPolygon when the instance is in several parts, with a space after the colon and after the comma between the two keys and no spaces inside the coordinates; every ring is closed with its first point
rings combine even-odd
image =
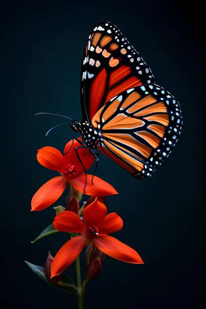
{"type": "Polygon", "coordinates": [[[60,212],[53,221],[53,226],[61,232],[83,233],[85,226],[80,217],[73,211],[60,212]]]}

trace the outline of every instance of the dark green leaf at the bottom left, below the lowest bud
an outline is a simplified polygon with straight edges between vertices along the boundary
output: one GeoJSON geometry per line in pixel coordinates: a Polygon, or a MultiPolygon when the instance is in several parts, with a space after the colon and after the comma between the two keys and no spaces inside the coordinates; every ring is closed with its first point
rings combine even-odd
{"type": "Polygon", "coordinates": [[[31,268],[31,270],[33,270],[47,284],[49,284],[49,285],[51,285],[51,286],[53,286],[53,287],[55,287],[59,290],[65,291],[65,292],[78,293],[78,288],[75,286],[75,283],[72,280],[72,278],[70,278],[68,275],[62,274],[61,281],[60,281],[60,284],[63,284],[63,285],[65,284],[67,286],[62,286],[62,285],[57,284],[57,283],[52,284],[51,282],[49,282],[46,279],[46,277],[44,275],[44,267],[32,264],[28,261],[25,261],[25,263],[31,268]]]}

